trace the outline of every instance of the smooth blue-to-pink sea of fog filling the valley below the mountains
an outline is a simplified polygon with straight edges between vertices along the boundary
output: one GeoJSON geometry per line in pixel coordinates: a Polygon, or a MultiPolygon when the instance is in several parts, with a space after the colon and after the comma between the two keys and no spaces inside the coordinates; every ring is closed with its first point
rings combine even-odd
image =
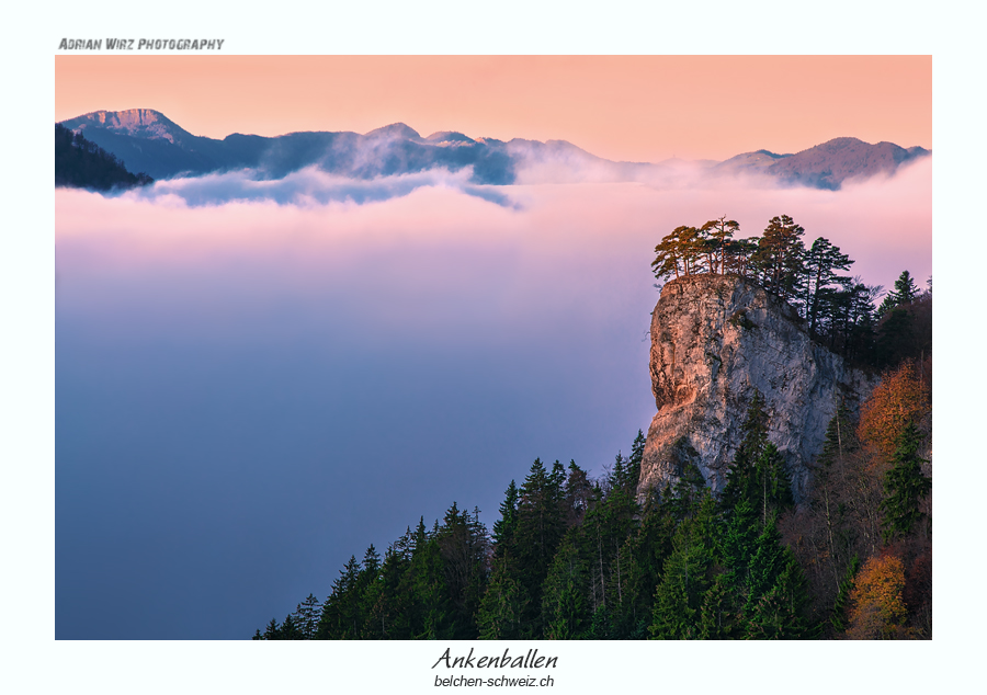
{"type": "Polygon", "coordinates": [[[840,192],[384,183],[56,192],[57,638],[249,638],[419,517],[489,527],[535,457],[600,475],[654,414],[679,225],[787,214],[869,284],[931,273],[931,162],[840,192]]]}

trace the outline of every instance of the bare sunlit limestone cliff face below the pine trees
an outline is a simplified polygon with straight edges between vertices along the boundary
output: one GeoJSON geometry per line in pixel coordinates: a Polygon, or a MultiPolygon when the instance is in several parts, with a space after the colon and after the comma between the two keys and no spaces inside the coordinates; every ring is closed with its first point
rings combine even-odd
{"type": "Polygon", "coordinates": [[[731,275],[693,275],[662,287],[651,315],[650,371],[658,413],[645,444],[640,497],[673,482],[690,463],[722,490],[758,389],[768,438],[785,456],[801,501],[807,464],[821,451],[840,398],[855,407],[873,388],[809,340],[786,303],[731,275]]]}

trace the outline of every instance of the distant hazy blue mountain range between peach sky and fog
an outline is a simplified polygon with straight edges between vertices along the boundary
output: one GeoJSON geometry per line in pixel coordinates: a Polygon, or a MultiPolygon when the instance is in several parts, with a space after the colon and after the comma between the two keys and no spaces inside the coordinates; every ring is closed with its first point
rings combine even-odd
{"type": "Polygon", "coordinates": [[[839,137],[796,153],[760,149],[722,162],[651,163],[608,160],[558,139],[542,143],[474,138],[456,130],[423,137],[400,122],[365,134],[305,130],[269,137],[231,133],[223,139],[193,135],[154,109],[94,111],[60,124],[84,133],[87,139],[156,179],[243,168],[258,170],[262,178],[277,179],[310,166],[328,173],[373,179],[434,168],[455,172],[473,167],[473,183],[507,185],[523,180],[525,170],[538,167],[547,172],[545,175],[561,176],[558,182],[566,182],[587,176],[633,181],[690,166],[714,175],[765,175],[783,185],[839,190],[847,179],[893,174],[899,166],[931,153],[922,147],[904,148],[884,141],[871,145],[839,137]],[[570,170],[568,175],[566,169],[570,170]]]}

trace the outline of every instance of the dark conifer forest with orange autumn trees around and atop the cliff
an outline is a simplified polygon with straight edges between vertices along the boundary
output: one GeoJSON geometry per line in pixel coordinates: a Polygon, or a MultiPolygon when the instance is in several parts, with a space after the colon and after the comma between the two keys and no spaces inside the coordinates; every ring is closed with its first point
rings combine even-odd
{"type": "Polygon", "coordinates": [[[929,639],[932,636],[932,288],[841,275],[787,216],[734,239],[725,217],[661,239],[656,278],[747,277],[793,306],[814,340],[880,376],[829,423],[795,504],[755,392],[718,493],[693,468],[638,491],[645,446],[600,477],[535,459],[500,519],[453,503],[383,552],[351,556],[254,639],[929,639]],[[882,298],[880,305],[876,300],[882,298]]]}

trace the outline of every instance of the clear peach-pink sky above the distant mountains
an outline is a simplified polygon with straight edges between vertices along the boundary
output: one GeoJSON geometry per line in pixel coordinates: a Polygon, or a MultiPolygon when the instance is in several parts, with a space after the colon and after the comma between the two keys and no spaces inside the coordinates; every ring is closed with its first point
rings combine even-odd
{"type": "Polygon", "coordinates": [[[55,119],[155,109],[195,135],[564,139],[614,160],[932,147],[931,56],[56,56],[55,119]]]}

